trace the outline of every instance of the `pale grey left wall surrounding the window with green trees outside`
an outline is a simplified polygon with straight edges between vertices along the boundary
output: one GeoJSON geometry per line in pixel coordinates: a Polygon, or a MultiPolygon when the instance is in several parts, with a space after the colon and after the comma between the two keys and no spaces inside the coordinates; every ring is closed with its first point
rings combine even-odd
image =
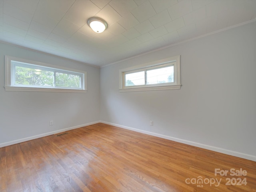
{"type": "Polygon", "coordinates": [[[0,146],[97,122],[99,100],[99,68],[0,43],[0,146]],[[87,71],[88,92],[5,91],[4,55],[87,71]],[[49,125],[50,120],[54,121],[53,126],[49,125]]]}

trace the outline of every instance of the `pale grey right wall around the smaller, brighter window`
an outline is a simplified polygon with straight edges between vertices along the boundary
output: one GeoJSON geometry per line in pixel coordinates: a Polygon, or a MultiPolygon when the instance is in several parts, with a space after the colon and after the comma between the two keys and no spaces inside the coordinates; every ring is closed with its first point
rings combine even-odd
{"type": "Polygon", "coordinates": [[[103,67],[100,76],[103,122],[256,161],[256,22],[103,67]],[[119,69],[176,55],[180,90],[119,92],[119,69]]]}

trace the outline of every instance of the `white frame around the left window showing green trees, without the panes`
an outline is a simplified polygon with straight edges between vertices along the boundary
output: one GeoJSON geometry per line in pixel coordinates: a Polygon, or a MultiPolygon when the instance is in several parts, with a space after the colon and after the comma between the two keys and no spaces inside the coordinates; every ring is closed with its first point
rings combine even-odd
{"type": "Polygon", "coordinates": [[[12,56],[5,56],[5,86],[6,91],[36,91],[36,92],[87,92],[87,72],[81,70],[75,70],[65,68],[62,66],[56,66],[52,64],[46,64],[43,62],[31,61],[22,58],[16,58],[12,56]],[[44,87],[44,86],[31,86],[31,85],[15,85],[14,79],[14,65],[12,61],[20,62],[16,66],[24,66],[29,68],[36,67],[41,70],[48,70],[60,73],[74,74],[81,76],[81,88],[63,88],[63,87],[44,87]]]}

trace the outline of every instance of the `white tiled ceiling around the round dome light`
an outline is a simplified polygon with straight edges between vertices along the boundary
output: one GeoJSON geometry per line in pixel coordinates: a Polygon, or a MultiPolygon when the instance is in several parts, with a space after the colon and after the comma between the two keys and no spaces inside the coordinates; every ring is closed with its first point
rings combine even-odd
{"type": "Polygon", "coordinates": [[[0,0],[0,41],[105,66],[255,18],[256,0],[0,0]]]}

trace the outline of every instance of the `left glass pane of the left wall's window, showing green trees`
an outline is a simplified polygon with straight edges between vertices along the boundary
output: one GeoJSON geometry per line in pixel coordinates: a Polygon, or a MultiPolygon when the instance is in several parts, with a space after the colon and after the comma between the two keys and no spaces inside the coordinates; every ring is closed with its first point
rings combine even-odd
{"type": "Polygon", "coordinates": [[[54,86],[54,72],[15,66],[15,85],[54,86]]]}

